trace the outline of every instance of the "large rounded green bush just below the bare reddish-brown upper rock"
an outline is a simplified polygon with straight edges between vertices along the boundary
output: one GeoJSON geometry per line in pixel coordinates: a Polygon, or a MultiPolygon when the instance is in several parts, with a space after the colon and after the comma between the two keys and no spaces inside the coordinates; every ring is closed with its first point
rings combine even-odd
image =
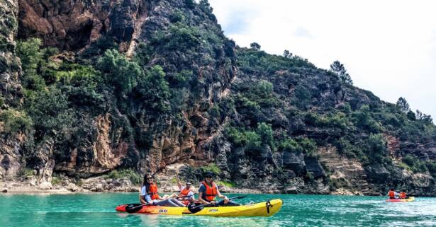
{"type": "Polygon", "coordinates": [[[97,61],[97,69],[122,93],[130,93],[144,74],[138,63],[131,62],[117,50],[106,50],[97,61]]]}

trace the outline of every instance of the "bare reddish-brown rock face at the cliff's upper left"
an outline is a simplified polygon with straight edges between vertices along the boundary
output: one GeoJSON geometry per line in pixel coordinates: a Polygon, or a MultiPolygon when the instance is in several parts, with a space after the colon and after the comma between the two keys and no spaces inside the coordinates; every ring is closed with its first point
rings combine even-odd
{"type": "Polygon", "coordinates": [[[45,45],[79,50],[110,35],[127,50],[149,1],[20,0],[18,37],[40,37],[45,45]]]}

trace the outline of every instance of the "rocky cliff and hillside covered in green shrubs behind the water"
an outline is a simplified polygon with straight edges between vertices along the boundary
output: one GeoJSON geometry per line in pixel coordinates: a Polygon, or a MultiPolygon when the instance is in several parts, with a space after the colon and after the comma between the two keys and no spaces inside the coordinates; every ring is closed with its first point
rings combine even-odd
{"type": "Polygon", "coordinates": [[[208,1],[4,0],[0,13],[0,180],[98,191],[121,183],[78,179],[171,181],[177,165],[262,192],[436,194],[429,116],[238,47],[208,1]]]}

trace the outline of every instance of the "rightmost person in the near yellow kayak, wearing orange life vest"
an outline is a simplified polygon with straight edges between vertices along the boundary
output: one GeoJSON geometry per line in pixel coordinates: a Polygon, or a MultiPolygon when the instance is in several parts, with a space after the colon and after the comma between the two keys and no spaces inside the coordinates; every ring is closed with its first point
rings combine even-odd
{"type": "Polygon", "coordinates": [[[239,204],[229,201],[228,197],[220,193],[218,186],[213,182],[212,178],[213,173],[206,173],[204,181],[201,182],[199,187],[199,202],[208,204],[208,206],[239,206],[239,204]],[[216,202],[217,196],[223,200],[216,202]]]}

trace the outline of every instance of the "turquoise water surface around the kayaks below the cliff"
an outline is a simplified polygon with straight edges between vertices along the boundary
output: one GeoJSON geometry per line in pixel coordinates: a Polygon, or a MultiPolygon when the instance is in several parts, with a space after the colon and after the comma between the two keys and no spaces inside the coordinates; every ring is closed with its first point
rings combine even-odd
{"type": "Polygon", "coordinates": [[[436,226],[436,198],[386,203],[383,197],[250,194],[239,202],[281,198],[272,217],[220,218],[119,214],[136,193],[0,194],[0,226],[436,226]]]}

